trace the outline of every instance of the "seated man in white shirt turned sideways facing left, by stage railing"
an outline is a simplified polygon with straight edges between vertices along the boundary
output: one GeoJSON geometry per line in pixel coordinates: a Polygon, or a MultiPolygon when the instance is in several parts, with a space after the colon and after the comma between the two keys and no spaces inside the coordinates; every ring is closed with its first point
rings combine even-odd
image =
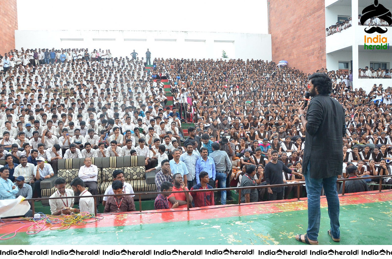
{"type": "MultiPolygon", "coordinates": [[[[91,196],[91,193],[86,190],[85,185],[80,178],[75,178],[71,182],[71,187],[75,193],[75,195],[79,196],[91,196]]],[[[80,212],[87,212],[90,214],[94,214],[94,198],[89,197],[89,198],[80,198],[79,200],[79,209],[67,208],[69,211],[73,213],[80,213],[80,212]]]]}

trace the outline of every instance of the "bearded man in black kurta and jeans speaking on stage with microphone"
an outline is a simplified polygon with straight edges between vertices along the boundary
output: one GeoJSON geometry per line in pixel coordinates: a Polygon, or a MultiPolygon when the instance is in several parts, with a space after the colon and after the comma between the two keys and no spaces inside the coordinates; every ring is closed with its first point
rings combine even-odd
{"type": "Polygon", "coordinates": [[[298,111],[303,128],[307,131],[302,172],[308,193],[308,229],[307,234],[296,235],[296,239],[309,245],[318,245],[320,194],[323,187],[331,226],[328,234],[333,241],[340,241],[336,179],[342,174],[342,138],[346,134],[346,126],[343,107],[329,96],[332,81],[327,74],[315,73],[309,76],[308,80],[309,93],[313,98],[307,112],[304,105],[298,111]],[[323,166],[320,166],[321,161],[323,166]]]}

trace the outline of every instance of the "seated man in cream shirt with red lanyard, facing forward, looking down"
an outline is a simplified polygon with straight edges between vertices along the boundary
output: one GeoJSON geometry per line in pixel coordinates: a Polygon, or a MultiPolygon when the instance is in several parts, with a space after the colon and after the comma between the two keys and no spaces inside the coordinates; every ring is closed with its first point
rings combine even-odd
{"type": "Polygon", "coordinates": [[[56,180],[54,180],[54,186],[57,188],[57,191],[55,191],[50,196],[50,198],[60,198],[60,197],[64,197],[64,198],[49,200],[50,211],[53,216],[71,214],[71,211],[65,208],[73,207],[74,198],[67,198],[67,197],[74,196],[74,192],[72,189],[65,189],[65,184],[66,184],[65,179],[62,177],[59,177],[56,180]]]}

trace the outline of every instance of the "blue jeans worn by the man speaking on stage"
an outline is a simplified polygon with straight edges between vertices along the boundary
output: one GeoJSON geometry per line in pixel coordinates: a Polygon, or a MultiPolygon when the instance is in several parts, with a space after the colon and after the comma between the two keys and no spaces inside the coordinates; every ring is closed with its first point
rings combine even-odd
{"type": "Polygon", "coordinates": [[[336,191],[336,179],[332,176],[324,179],[310,178],[310,161],[304,173],[306,191],[308,193],[308,230],[309,239],[317,241],[320,229],[320,194],[324,187],[325,196],[328,203],[328,215],[330,219],[330,230],[332,237],[340,238],[339,231],[339,198],[336,191]]]}

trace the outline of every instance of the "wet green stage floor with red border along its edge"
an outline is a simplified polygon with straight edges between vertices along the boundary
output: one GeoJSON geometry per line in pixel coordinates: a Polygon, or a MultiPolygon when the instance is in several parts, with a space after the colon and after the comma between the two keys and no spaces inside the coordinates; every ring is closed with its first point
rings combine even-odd
{"type": "MultiPolygon", "coordinates": [[[[348,194],[339,200],[341,242],[333,242],[327,234],[327,200],[322,198],[320,245],[392,243],[390,235],[380,236],[392,231],[392,191],[348,194]]],[[[0,233],[21,226],[3,226],[0,233]]],[[[22,229],[0,245],[301,245],[294,236],[306,233],[306,229],[307,200],[302,199],[105,215],[98,223],[66,231],[47,229],[28,235],[22,229]]]]}

